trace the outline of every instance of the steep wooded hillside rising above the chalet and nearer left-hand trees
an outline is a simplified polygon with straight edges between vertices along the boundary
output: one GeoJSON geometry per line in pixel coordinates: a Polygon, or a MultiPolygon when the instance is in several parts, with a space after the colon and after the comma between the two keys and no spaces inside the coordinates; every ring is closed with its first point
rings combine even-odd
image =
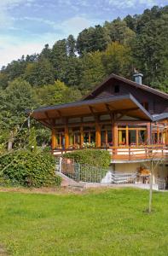
{"type": "Polygon", "coordinates": [[[144,84],[168,91],[168,6],[146,9],[142,15],[127,15],[103,26],[84,29],[46,44],[39,54],[22,56],[3,67],[0,87],[16,78],[33,87],[54,84],[59,79],[81,91],[90,90],[109,73],[131,79],[133,69],[144,74],[144,84]]]}

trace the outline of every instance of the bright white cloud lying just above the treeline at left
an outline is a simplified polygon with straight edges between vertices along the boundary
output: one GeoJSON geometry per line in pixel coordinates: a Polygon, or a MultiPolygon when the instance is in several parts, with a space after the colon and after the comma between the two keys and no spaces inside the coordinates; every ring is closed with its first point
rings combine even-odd
{"type": "MultiPolygon", "coordinates": [[[[55,44],[56,40],[67,38],[70,33],[77,36],[78,32],[81,32],[86,27],[94,26],[98,22],[97,20],[89,20],[86,17],[79,16],[72,17],[62,23],[59,22],[59,24],[51,20],[35,17],[24,17],[24,19],[44,22],[45,24],[52,26],[55,29],[55,32],[43,33],[41,35],[33,34],[32,38],[25,38],[25,40],[21,40],[14,36],[1,36],[0,67],[6,66],[9,62],[19,59],[21,55],[39,53],[43,49],[44,44],[52,46],[52,44],[55,44]],[[56,30],[60,30],[61,33],[56,32],[56,30]]],[[[22,20],[22,18],[20,18],[20,20],[22,20]]]]}

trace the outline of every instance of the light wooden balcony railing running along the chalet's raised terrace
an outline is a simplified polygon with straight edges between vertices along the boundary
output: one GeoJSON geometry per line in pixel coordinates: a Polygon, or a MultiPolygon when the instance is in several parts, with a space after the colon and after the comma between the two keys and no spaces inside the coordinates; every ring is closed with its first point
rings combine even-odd
{"type": "MultiPolygon", "coordinates": [[[[55,156],[70,153],[74,150],[82,150],[84,148],[56,148],[53,150],[55,156]]],[[[142,161],[142,160],[168,160],[168,146],[165,145],[145,145],[145,146],[130,146],[130,147],[99,147],[90,148],[107,150],[111,154],[112,162],[128,162],[128,161],[142,161]]]]}

